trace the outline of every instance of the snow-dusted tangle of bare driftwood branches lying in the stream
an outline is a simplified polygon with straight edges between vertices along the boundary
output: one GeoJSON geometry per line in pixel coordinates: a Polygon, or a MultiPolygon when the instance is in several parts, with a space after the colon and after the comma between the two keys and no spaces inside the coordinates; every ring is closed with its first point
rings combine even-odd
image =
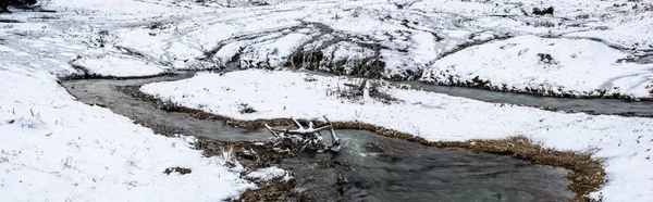
{"type": "Polygon", "coordinates": [[[270,127],[268,124],[266,125],[266,128],[268,128],[268,131],[270,131],[270,134],[272,134],[272,136],[276,139],[291,139],[293,141],[299,141],[300,150],[303,150],[304,148],[306,148],[307,146],[324,146],[322,142],[322,134],[320,134],[320,131],[323,130],[329,130],[329,134],[331,135],[331,146],[324,146],[325,149],[328,150],[332,150],[332,151],[338,151],[340,150],[340,138],[337,138],[335,136],[335,131],[333,129],[333,125],[331,124],[331,121],[329,121],[329,118],[326,118],[326,116],[323,116],[324,119],[326,121],[326,125],[319,127],[319,128],[315,128],[315,125],[312,122],[308,123],[307,127],[301,126],[301,124],[299,124],[299,122],[297,122],[297,119],[291,117],[291,119],[293,119],[293,123],[295,123],[295,126],[289,126],[286,129],[276,129],[276,128],[272,128],[270,127]],[[296,128],[293,128],[296,127],[296,128]]]}

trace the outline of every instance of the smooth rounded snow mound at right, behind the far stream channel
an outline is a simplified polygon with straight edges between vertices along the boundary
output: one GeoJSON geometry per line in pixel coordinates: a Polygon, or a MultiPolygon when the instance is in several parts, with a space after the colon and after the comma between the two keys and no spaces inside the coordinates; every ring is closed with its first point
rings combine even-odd
{"type": "Polygon", "coordinates": [[[521,36],[445,56],[421,80],[458,85],[477,79],[516,91],[653,98],[653,64],[617,62],[627,55],[591,40],[521,36]]]}

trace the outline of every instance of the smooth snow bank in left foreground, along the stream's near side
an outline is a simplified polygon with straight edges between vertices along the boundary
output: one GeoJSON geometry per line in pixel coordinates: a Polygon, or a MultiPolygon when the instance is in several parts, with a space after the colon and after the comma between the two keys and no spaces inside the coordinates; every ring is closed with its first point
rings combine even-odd
{"type": "MultiPolygon", "coordinates": [[[[37,62],[37,61],[35,61],[37,62]]],[[[0,62],[3,63],[3,62],[0,62]]],[[[220,201],[254,185],[167,138],[67,94],[48,73],[0,70],[2,201],[220,201]],[[169,167],[192,173],[163,174],[169,167]]]]}

